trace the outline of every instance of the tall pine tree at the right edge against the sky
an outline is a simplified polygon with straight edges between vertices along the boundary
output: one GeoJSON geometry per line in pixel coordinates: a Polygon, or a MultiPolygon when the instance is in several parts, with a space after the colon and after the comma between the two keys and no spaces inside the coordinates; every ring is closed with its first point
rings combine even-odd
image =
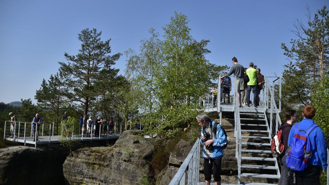
{"type": "MultiPolygon", "coordinates": [[[[308,8],[307,8],[308,10],[308,8]]],[[[297,39],[291,39],[291,47],[282,43],[282,49],[290,60],[283,72],[283,108],[308,105],[310,94],[317,85],[322,86],[329,64],[329,11],[326,6],[318,10],[311,20],[308,11],[307,24],[297,19],[292,32],[297,39]]]]}

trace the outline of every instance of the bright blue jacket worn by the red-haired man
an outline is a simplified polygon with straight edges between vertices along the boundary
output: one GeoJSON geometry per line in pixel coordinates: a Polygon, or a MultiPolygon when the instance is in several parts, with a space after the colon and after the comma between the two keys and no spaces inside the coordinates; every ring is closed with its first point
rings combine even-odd
{"type": "MultiPolygon", "coordinates": [[[[314,124],[312,119],[304,118],[301,122],[298,123],[300,130],[307,130],[311,125],[314,124]]],[[[295,129],[297,124],[294,124],[290,130],[288,144],[291,145],[291,140],[295,135],[296,131],[298,132],[298,127],[295,129]]],[[[312,157],[309,164],[322,167],[323,170],[327,169],[327,145],[324,139],[324,133],[320,127],[316,127],[309,135],[311,141],[311,150],[312,157]]]]}

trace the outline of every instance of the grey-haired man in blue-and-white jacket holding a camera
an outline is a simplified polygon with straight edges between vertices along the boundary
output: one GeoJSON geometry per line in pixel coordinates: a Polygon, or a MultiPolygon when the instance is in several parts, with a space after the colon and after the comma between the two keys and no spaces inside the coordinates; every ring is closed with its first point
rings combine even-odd
{"type": "Polygon", "coordinates": [[[227,143],[222,127],[217,124],[214,133],[215,121],[212,121],[207,114],[201,113],[196,117],[201,129],[200,142],[204,145],[202,156],[204,158],[204,176],[206,185],[210,185],[211,171],[213,170],[215,185],[220,185],[220,172],[223,157],[223,148],[227,143]],[[206,133],[206,136],[205,136],[206,133]]]}

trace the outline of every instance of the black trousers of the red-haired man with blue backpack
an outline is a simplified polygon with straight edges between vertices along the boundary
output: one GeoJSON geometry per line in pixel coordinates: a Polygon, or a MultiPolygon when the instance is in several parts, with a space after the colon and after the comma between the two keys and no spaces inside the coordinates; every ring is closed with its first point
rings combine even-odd
{"type": "Polygon", "coordinates": [[[290,170],[291,185],[319,185],[322,168],[315,165],[307,165],[304,171],[290,170]]]}

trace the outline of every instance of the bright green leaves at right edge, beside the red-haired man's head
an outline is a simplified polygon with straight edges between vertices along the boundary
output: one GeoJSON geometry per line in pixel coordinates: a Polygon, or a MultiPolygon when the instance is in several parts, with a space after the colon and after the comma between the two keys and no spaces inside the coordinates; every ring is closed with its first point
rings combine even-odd
{"type": "Polygon", "coordinates": [[[311,94],[312,105],[316,109],[313,120],[318,124],[325,136],[329,134],[329,75],[325,75],[323,86],[317,85],[311,94]]]}

